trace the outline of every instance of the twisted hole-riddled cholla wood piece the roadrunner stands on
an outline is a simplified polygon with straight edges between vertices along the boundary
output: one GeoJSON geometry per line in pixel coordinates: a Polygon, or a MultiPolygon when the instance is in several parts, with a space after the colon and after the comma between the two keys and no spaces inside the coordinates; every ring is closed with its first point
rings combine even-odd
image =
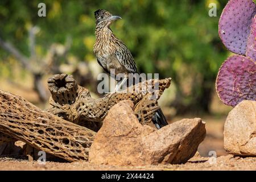
{"type": "Polygon", "coordinates": [[[157,100],[170,83],[171,78],[147,80],[131,86],[128,92],[123,90],[93,99],[89,90],[77,85],[71,75],[53,75],[48,79],[48,88],[52,94],[49,103],[52,107],[47,111],[97,131],[113,105],[122,100],[131,100],[135,105],[135,114],[144,125],[151,122],[152,114],[159,109],[157,100]]]}

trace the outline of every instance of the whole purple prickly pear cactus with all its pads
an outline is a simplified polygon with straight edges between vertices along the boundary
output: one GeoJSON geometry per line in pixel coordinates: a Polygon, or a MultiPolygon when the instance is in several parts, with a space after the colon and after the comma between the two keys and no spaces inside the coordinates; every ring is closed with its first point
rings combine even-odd
{"type": "Polygon", "coordinates": [[[233,107],[242,100],[256,101],[255,3],[252,0],[230,0],[222,11],[218,28],[226,48],[238,54],[229,57],[218,71],[218,97],[233,107]]]}

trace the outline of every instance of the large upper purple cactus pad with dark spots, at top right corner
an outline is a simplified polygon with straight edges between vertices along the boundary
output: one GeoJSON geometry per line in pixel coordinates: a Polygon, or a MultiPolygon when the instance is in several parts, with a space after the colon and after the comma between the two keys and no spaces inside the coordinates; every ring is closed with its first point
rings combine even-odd
{"type": "Polygon", "coordinates": [[[218,34],[230,51],[245,55],[251,19],[256,14],[252,0],[230,0],[218,22],[218,34]]]}

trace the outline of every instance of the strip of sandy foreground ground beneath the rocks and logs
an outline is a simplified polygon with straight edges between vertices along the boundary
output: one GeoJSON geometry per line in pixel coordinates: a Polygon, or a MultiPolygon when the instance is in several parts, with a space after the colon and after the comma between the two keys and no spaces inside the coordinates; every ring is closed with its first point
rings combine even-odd
{"type": "Polygon", "coordinates": [[[27,162],[27,160],[1,158],[1,170],[256,170],[256,158],[241,158],[239,156],[226,155],[218,158],[203,158],[195,156],[185,164],[166,164],[143,167],[117,167],[98,166],[88,162],[59,163],[27,162]]]}

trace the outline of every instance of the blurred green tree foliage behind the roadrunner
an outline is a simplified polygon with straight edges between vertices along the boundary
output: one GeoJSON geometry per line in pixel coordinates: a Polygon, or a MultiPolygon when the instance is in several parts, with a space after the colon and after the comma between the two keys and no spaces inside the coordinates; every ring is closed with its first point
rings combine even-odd
{"type": "MultiPolygon", "coordinates": [[[[69,54],[96,61],[93,12],[109,10],[123,18],[112,25],[112,30],[131,50],[139,71],[173,78],[177,93],[172,105],[178,113],[209,111],[217,71],[227,57],[218,38],[218,19],[226,2],[1,0],[0,37],[29,56],[27,30],[36,25],[41,28],[35,47],[39,55],[45,55],[53,42],[64,44],[71,36],[69,54]],[[46,18],[38,16],[40,2],[46,3],[46,18]],[[212,2],[217,5],[217,17],[208,15],[212,2]]],[[[0,50],[0,61],[7,55],[0,50]]]]}

